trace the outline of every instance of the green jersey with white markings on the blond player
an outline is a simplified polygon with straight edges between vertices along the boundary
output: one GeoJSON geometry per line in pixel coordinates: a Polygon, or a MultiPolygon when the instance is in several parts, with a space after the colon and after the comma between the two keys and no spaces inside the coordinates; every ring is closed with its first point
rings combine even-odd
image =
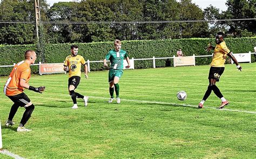
{"type": "Polygon", "coordinates": [[[120,52],[116,52],[115,49],[109,51],[106,54],[105,59],[110,60],[112,69],[123,69],[124,68],[124,59],[128,57],[128,54],[125,50],[120,49],[120,52]]]}

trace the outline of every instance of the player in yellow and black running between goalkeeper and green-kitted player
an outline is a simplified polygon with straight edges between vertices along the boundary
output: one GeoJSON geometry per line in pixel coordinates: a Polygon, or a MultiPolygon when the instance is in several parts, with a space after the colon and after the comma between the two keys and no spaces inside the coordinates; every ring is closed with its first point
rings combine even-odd
{"type": "Polygon", "coordinates": [[[72,45],[71,46],[71,55],[67,56],[64,62],[64,70],[69,71],[69,94],[73,100],[73,107],[72,109],[78,109],[77,106],[77,99],[82,98],[84,99],[84,105],[87,106],[88,97],[80,95],[79,93],[75,92],[77,88],[80,77],[81,77],[81,64],[84,66],[85,77],[88,78],[88,70],[87,65],[85,63],[84,57],[77,55],[78,53],[78,46],[72,45]]]}

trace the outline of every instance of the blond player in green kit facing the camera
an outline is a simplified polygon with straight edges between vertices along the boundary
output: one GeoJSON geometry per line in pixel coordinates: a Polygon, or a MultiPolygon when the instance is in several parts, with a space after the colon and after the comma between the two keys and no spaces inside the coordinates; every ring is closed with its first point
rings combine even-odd
{"type": "Polygon", "coordinates": [[[109,93],[110,99],[109,103],[113,102],[114,99],[114,91],[116,91],[117,103],[120,103],[121,100],[119,98],[119,79],[123,75],[124,68],[124,59],[126,59],[128,65],[125,68],[130,67],[130,59],[125,50],[121,49],[121,41],[116,39],[114,40],[114,49],[110,50],[109,53],[106,54],[104,59],[104,66],[107,67],[107,60],[110,60],[111,66],[109,70],[109,93]]]}

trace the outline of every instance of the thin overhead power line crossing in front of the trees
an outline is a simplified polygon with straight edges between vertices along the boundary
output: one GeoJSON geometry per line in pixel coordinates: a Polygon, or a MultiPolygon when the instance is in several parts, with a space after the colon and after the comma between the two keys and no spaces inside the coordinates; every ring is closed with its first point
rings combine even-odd
{"type": "MultiPolygon", "coordinates": [[[[256,20],[256,18],[241,19],[215,19],[215,20],[166,20],[166,21],[41,21],[41,24],[151,24],[151,23],[194,23],[194,22],[218,22],[218,21],[242,21],[256,20]]],[[[35,21],[5,21],[6,24],[35,24],[35,21]]]]}

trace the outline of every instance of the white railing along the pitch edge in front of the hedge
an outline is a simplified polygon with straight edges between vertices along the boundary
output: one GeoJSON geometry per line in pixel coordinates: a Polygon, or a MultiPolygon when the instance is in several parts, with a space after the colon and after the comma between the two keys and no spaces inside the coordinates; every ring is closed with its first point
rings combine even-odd
{"type": "MultiPolygon", "coordinates": [[[[249,52],[249,53],[247,53],[247,54],[256,54],[256,53],[251,53],[251,52],[249,52]]],[[[212,55],[198,55],[198,56],[196,56],[196,55],[193,54],[193,56],[194,56],[194,57],[210,57],[210,56],[213,56],[213,54],[212,54],[212,55]]],[[[174,59],[174,57],[175,57],[174,55],[173,55],[173,57],[155,57],[155,56],[153,56],[152,58],[146,58],[146,59],[134,59],[134,58],[132,57],[132,60],[134,60],[134,61],[152,60],[152,62],[153,62],[153,68],[156,68],[156,60],[160,60],[160,59],[174,59]]],[[[99,62],[103,62],[103,61],[90,61],[90,60],[87,60],[86,63],[87,63],[88,71],[90,72],[90,63],[99,63],[99,62]]],[[[110,61],[108,60],[107,62],[110,62],[110,61]]],[[[1,68],[1,67],[14,67],[15,64],[16,64],[16,63],[14,63],[13,65],[0,66],[0,68],[1,68]]],[[[31,66],[39,66],[40,64],[41,64],[41,62],[36,63],[36,64],[31,64],[31,66]]]]}

